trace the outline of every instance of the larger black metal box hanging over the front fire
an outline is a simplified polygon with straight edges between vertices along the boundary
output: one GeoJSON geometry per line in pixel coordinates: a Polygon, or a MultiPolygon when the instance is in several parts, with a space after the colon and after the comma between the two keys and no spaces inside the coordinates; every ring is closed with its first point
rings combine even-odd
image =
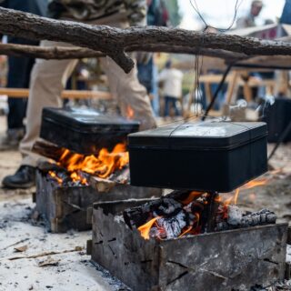
{"type": "Polygon", "coordinates": [[[128,135],[134,186],[230,192],[267,171],[266,124],[166,125],[128,135]]]}

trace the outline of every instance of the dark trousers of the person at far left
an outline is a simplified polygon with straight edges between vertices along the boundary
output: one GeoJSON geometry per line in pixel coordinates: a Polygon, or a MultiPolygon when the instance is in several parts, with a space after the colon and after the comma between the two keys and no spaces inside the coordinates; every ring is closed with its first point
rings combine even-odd
{"type": "MultiPolygon", "coordinates": [[[[9,43],[21,45],[38,45],[37,42],[9,37],[9,43]]],[[[30,57],[8,57],[8,76],[7,88],[28,88],[30,80],[30,72],[35,63],[35,59],[30,57]]],[[[26,112],[27,98],[9,98],[7,115],[8,129],[23,128],[26,112]]]]}

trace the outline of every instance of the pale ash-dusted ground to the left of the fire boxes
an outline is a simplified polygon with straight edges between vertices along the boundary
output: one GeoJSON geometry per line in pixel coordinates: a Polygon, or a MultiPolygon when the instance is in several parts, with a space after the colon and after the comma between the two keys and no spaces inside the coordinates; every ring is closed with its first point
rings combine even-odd
{"type": "MultiPolygon", "coordinates": [[[[0,132],[5,120],[0,116],[0,132]]],[[[0,152],[0,180],[13,174],[21,156],[16,151],[0,152]]],[[[99,271],[85,255],[89,232],[51,234],[34,226],[34,208],[29,190],[0,188],[0,291],[115,291],[121,284],[99,271]],[[15,248],[20,247],[21,252],[15,248]],[[59,253],[45,256],[45,253],[59,253]],[[27,256],[35,256],[27,258],[27,256]],[[15,258],[22,257],[22,258],[15,258]]]]}

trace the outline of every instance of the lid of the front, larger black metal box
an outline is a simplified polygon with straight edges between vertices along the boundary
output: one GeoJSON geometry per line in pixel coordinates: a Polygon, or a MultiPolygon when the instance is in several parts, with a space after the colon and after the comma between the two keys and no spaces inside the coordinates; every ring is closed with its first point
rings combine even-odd
{"type": "Polygon", "coordinates": [[[266,123],[262,122],[189,122],[128,135],[128,145],[129,148],[231,149],[266,135],[266,123]]]}

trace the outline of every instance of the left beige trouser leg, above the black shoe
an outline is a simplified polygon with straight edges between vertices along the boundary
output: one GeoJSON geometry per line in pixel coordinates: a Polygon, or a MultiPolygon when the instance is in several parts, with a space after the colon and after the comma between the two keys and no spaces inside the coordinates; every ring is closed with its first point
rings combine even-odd
{"type": "MultiPolygon", "coordinates": [[[[43,41],[41,45],[73,46],[52,41],[43,41]]],[[[77,60],[37,59],[35,61],[29,85],[26,133],[20,143],[20,152],[23,155],[22,165],[36,166],[39,156],[33,154],[31,149],[40,133],[42,110],[44,107],[59,107],[62,105],[62,90],[76,64],[77,60]]]]}

